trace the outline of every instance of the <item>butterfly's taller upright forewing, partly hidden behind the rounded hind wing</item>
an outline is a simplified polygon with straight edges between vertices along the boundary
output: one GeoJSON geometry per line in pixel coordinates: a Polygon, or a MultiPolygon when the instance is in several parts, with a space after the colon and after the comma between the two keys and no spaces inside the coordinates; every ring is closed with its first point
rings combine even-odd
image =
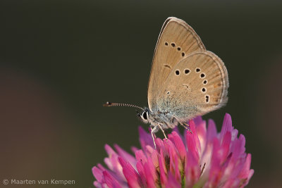
{"type": "Polygon", "coordinates": [[[154,50],[149,77],[148,105],[151,111],[157,109],[159,89],[171,69],[188,54],[200,50],[205,50],[204,44],[192,27],[178,18],[166,19],[154,50]]]}

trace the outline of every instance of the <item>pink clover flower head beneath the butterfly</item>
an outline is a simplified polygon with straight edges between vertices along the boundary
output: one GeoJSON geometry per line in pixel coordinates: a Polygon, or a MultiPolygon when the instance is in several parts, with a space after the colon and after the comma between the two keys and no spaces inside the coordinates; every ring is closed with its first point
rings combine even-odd
{"type": "Polygon", "coordinates": [[[168,140],[156,139],[139,127],[141,149],[135,156],[118,145],[105,146],[107,168],[92,168],[95,187],[245,187],[254,170],[251,155],[245,153],[245,137],[232,127],[226,114],[221,132],[213,120],[201,117],[189,121],[184,135],[174,129],[168,140]],[[207,126],[208,124],[208,126],[207,126]]]}

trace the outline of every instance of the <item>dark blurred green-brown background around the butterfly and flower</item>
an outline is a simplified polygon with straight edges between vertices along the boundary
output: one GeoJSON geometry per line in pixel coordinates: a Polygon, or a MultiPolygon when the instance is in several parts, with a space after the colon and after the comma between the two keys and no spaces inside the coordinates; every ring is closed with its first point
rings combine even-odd
{"type": "Polygon", "coordinates": [[[75,180],[67,187],[92,187],[91,169],[103,163],[104,144],[128,151],[140,146],[135,109],[102,104],[147,106],[157,37],[164,20],[176,16],[228,69],[228,104],[204,119],[213,118],[220,129],[230,113],[252,153],[255,175],[248,187],[280,187],[281,5],[2,0],[1,181],[55,178],[75,180]]]}

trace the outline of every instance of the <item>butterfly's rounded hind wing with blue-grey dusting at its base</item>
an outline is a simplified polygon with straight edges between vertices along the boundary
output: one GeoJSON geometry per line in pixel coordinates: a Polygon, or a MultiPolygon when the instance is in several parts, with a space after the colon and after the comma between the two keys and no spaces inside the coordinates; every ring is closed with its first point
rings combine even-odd
{"type": "Polygon", "coordinates": [[[178,120],[214,111],[226,104],[228,73],[210,51],[196,51],[177,63],[157,96],[157,108],[178,120]]]}

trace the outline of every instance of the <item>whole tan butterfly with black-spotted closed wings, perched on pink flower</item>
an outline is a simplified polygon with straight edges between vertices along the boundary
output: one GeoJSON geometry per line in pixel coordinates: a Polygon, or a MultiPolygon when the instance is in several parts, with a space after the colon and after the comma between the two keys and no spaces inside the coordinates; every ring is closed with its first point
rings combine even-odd
{"type": "MultiPolygon", "coordinates": [[[[175,17],[167,18],[154,49],[148,86],[149,108],[106,102],[104,106],[140,108],[137,115],[154,133],[221,108],[228,101],[228,73],[221,58],[207,51],[197,33],[175,17]]],[[[190,130],[191,132],[191,130],[190,130]]],[[[192,133],[192,132],[191,132],[192,133]]],[[[156,148],[156,143],[154,141],[156,148]]]]}

